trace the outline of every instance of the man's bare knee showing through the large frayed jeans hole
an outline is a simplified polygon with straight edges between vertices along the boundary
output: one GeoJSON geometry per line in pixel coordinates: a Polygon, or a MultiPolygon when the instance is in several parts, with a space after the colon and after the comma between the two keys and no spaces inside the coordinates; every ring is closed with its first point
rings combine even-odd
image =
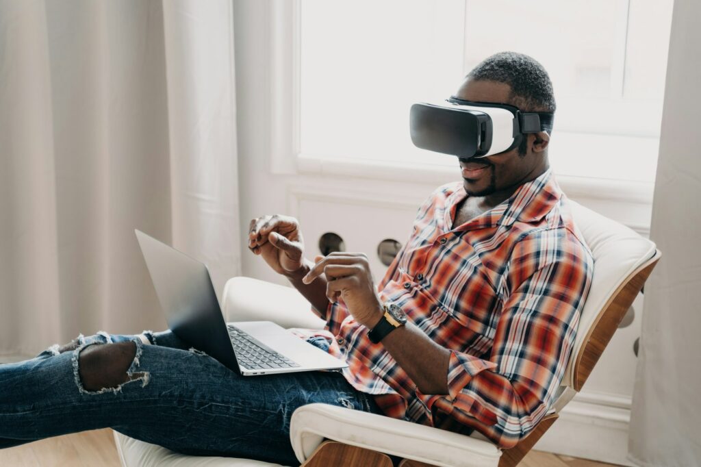
{"type": "Polygon", "coordinates": [[[116,389],[128,381],[143,379],[144,373],[128,374],[136,353],[137,346],[133,341],[93,344],[83,348],[78,356],[78,372],[83,389],[116,389]]]}

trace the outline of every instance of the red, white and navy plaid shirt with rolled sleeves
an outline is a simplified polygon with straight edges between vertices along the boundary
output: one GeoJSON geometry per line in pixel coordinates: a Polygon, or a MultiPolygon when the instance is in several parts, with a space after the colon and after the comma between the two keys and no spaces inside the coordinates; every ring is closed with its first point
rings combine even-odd
{"type": "Polygon", "coordinates": [[[390,417],[512,447],[545,415],[567,365],[593,259],[551,171],[460,226],[462,182],[418,209],[409,241],[379,284],[383,300],[450,350],[449,395],[422,394],[367,338],[342,301],[329,304],[332,353],[390,417]],[[337,345],[336,345],[337,344],[337,345]]]}

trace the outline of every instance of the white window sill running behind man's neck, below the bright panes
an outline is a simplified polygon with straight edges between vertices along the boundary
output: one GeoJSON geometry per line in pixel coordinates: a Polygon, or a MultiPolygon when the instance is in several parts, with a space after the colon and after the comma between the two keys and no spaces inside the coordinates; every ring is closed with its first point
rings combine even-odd
{"type": "MultiPolygon", "coordinates": [[[[459,173],[456,167],[416,162],[396,163],[336,156],[325,157],[317,154],[297,155],[297,170],[301,174],[353,177],[383,182],[407,182],[430,186],[439,186],[458,180],[459,173]]],[[[557,172],[555,175],[562,190],[573,199],[591,198],[652,205],[655,188],[653,182],[576,177],[557,175],[557,172]]]]}

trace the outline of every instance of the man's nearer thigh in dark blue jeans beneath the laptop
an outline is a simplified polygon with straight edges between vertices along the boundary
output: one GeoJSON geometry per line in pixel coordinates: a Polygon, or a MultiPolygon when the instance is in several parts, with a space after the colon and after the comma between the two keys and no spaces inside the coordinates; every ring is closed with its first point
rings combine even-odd
{"type": "Polygon", "coordinates": [[[378,412],[337,372],[243,377],[199,351],[159,346],[143,346],[138,371],[149,375],[147,384],[93,397],[126,411],[111,424],[116,431],[186,454],[292,465],[290,418],[297,407],[324,402],[378,412]]]}

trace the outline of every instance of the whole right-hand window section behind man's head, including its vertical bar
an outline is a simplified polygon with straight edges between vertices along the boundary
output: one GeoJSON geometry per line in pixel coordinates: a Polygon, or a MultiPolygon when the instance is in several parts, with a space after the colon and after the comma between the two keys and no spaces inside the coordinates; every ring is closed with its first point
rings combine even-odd
{"type": "Polygon", "coordinates": [[[552,79],[557,131],[659,137],[672,0],[466,0],[465,72],[515,50],[552,79]]]}

